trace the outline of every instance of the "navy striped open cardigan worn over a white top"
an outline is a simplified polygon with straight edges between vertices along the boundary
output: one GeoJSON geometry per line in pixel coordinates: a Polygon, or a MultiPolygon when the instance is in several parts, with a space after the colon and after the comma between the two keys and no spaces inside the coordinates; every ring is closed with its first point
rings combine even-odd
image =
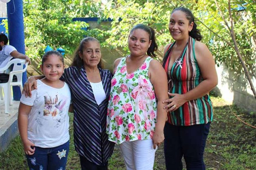
{"type": "Polygon", "coordinates": [[[112,74],[99,68],[106,99],[97,104],[85,68],[69,67],[62,79],[69,85],[74,106],[74,143],[79,155],[104,166],[113,153],[115,143],[106,134],[106,113],[112,74]]]}

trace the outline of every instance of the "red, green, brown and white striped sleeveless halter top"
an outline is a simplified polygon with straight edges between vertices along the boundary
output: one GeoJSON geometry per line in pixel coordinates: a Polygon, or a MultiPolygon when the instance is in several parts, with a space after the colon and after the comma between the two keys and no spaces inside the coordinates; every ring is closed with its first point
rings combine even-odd
{"type": "MultiPolygon", "coordinates": [[[[176,94],[185,94],[203,81],[195,57],[195,39],[189,37],[189,41],[181,55],[171,66],[169,61],[174,44],[175,42],[169,45],[164,54],[162,65],[167,72],[169,91],[176,94]]],[[[206,124],[212,120],[213,104],[210,96],[206,94],[202,98],[190,100],[177,110],[169,112],[167,122],[177,126],[189,126],[206,124]]]]}

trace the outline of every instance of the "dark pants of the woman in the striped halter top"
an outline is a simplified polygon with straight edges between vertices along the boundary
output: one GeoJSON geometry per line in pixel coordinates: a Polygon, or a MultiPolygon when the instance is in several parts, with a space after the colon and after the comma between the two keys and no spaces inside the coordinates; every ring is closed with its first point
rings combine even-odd
{"type": "Polygon", "coordinates": [[[182,170],[184,156],[187,170],[205,170],[204,147],[210,123],[174,126],[165,123],[165,165],[167,170],[182,170]]]}

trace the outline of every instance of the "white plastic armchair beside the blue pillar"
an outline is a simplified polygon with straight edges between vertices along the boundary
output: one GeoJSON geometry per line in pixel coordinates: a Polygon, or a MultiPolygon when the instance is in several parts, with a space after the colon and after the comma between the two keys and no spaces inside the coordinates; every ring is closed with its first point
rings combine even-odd
{"type": "Polygon", "coordinates": [[[20,91],[22,91],[22,73],[26,71],[28,63],[23,59],[13,59],[6,66],[0,68],[0,72],[5,72],[12,64],[13,70],[10,72],[9,81],[7,83],[0,83],[0,96],[2,96],[2,88],[4,90],[4,112],[9,113],[9,104],[13,104],[13,99],[11,97],[11,86],[19,86],[20,91]],[[25,68],[23,68],[25,65],[25,68]],[[13,82],[13,75],[17,76],[17,82],[13,82]]]}

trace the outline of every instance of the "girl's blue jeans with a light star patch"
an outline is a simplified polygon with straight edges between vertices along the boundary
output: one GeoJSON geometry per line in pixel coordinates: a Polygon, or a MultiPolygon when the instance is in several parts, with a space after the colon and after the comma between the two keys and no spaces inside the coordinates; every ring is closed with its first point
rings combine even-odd
{"type": "Polygon", "coordinates": [[[53,148],[35,147],[33,155],[26,155],[30,170],[65,170],[69,141],[53,148]]]}

